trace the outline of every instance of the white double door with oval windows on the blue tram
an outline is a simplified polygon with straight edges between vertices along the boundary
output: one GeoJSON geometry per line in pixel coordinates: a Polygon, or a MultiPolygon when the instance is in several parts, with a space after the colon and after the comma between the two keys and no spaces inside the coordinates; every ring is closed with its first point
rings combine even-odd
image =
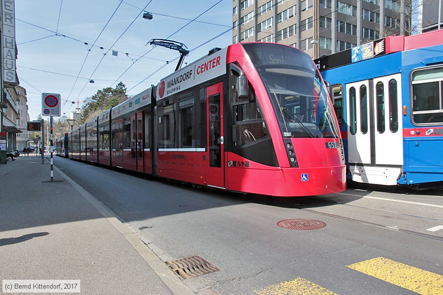
{"type": "Polygon", "coordinates": [[[346,85],[352,179],[395,185],[403,164],[401,75],[346,85]]]}

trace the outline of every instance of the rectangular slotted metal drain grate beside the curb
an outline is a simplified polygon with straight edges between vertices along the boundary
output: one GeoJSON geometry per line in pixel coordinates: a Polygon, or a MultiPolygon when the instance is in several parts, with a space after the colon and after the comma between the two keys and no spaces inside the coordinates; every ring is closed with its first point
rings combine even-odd
{"type": "Polygon", "coordinates": [[[218,267],[212,265],[198,255],[166,261],[166,265],[183,279],[189,279],[220,270],[218,267]]]}

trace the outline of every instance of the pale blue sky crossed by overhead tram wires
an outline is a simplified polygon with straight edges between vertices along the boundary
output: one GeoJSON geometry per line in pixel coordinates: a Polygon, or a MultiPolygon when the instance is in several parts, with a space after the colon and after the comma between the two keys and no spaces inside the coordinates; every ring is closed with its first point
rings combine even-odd
{"type": "MultiPolygon", "coordinates": [[[[157,84],[174,71],[176,63],[152,74],[166,61],[179,57],[179,53],[161,47],[153,49],[146,43],[153,38],[167,38],[190,22],[178,18],[192,20],[203,12],[196,21],[206,23],[194,21],[170,37],[190,50],[232,26],[232,1],[16,0],[17,74],[20,86],[28,92],[31,120],[41,113],[42,92],[60,93],[62,115],[67,115],[77,107],[72,101],[84,101],[98,89],[115,87],[119,81],[125,83],[129,95],[157,84]],[[153,20],[142,18],[140,12],[145,6],[144,10],[153,13],[153,20]],[[118,56],[108,49],[118,51],[118,56]],[[89,83],[90,78],[95,83],[89,83]]],[[[185,62],[231,42],[232,32],[228,31],[191,51],[185,62]]]]}

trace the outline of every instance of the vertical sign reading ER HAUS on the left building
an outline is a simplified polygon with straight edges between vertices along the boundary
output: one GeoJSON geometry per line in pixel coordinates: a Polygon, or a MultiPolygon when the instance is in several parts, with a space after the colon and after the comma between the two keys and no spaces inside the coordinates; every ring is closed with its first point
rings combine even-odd
{"type": "Polygon", "coordinates": [[[17,51],[15,43],[15,3],[14,0],[1,0],[1,26],[3,38],[3,83],[17,85],[17,51]]]}

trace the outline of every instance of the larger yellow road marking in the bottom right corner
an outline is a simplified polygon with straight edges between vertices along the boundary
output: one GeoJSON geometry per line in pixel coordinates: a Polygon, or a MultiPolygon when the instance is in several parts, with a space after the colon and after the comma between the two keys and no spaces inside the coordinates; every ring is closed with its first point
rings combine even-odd
{"type": "Polygon", "coordinates": [[[421,295],[443,295],[443,276],[383,257],[348,266],[421,295]]]}

